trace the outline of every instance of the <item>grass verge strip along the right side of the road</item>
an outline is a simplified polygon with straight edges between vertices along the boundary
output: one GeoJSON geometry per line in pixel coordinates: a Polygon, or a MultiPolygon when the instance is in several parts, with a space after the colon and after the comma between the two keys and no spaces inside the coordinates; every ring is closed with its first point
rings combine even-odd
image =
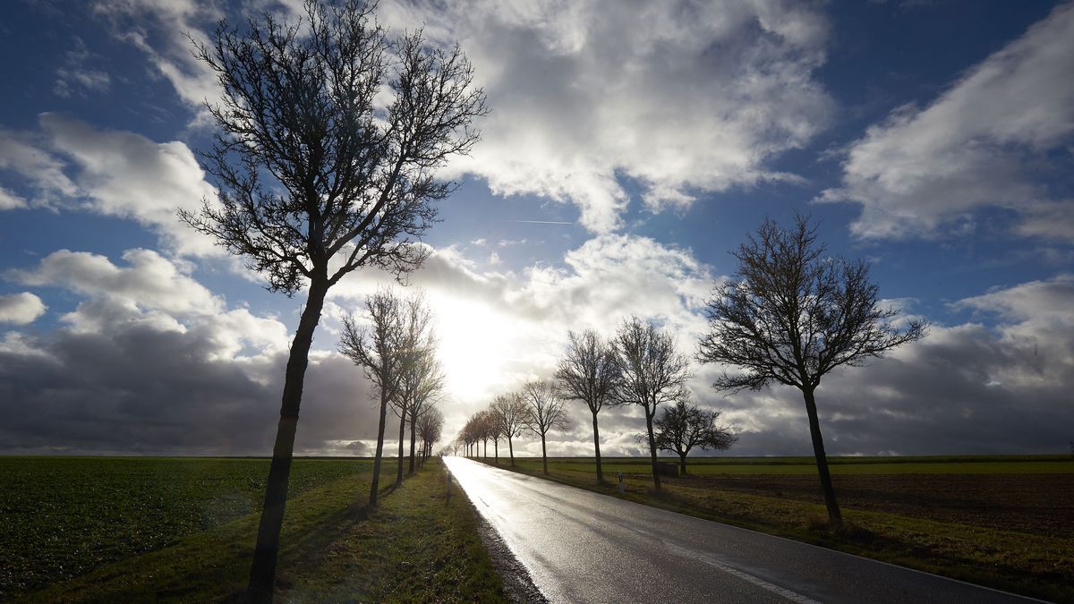
{"type": "MultiPolygon", "coordinates": [[[[493,463],[491,459],[483,461],[493,463]]],[[[1004,591],[1074,602],[1074,542],[1066,535],[1031,534],[846,505],[846,529],[833,533],[827,529],[818,490],[815,502],[809,502],[714,489],[709,480],[695,476],[665,477],[664,489],[655,491],[650,475],[629,474],[626,492],[621,494],[614,485],[596,484],[592,460],[586,465],[549,459],[549,475],[541,472],[539,458],[517,458],[516,462],[513,469],[507,460],[497,466],[1004,591]]],[[[614,463],[605,466],[605,475],[613,480],[618,471],[614,463]]]]}

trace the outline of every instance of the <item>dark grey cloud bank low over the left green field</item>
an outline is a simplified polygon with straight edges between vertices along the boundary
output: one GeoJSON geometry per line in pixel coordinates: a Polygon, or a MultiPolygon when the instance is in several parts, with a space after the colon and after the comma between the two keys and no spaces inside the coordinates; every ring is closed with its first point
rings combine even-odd
{"type": "MultiPolygon", "coordinates": [[[[286,357],[216,358],[204,330],[135,323],[108,333],[61,329],[0,353],[0,451],[268,455],[286,357]],[[258,366],[251,366],[258,365],[258,366]],[[274,376],[266,383],[251,374],[274,376]]],[[[296,451],[376,437],[368,384],[349,362],[315,359],[296,451]]]]}

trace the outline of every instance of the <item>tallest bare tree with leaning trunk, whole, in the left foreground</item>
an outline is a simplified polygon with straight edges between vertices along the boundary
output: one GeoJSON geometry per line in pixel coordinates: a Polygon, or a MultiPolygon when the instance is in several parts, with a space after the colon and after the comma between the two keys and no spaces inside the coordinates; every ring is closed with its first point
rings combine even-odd
{"type": "Polygon", "coordinates": [[[222,90],[206,103],[217,134],[201,156],[219,193],[179,215],[244,256],[270,290],[306,289],[250,570],[249,598],[266,601],[324,297],[360,267],[398,274],[421,264],[426,248],[416,243],[436,217],[433,202],[454,188],[435,174],[478,140],[470,125],[485,113],[484,95],[458,47],[436,49],[420,31],[390,40],[360,0],[307,0],[293,24],[268,14],[242,30],[221,21],[194,53],[222,90]]]}

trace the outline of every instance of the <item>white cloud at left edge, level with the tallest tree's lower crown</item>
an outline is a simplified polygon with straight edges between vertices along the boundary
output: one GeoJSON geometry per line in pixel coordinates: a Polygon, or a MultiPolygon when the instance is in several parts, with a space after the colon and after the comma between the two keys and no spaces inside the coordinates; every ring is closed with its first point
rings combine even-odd
{"type": "MultiPolygon", "coordinates": [[[[35,132],[0,130],[0,169],[34,192],[31,205],[133,219],[155,229],[176,253],[221,254],[176,216],[216,195],[185,143],[157,143],[52,113],[41,114],[40,123],[35,132]]],[[[0,201],[0,207],[26,205],[6,197],[14,204],[0,201]]]]}

